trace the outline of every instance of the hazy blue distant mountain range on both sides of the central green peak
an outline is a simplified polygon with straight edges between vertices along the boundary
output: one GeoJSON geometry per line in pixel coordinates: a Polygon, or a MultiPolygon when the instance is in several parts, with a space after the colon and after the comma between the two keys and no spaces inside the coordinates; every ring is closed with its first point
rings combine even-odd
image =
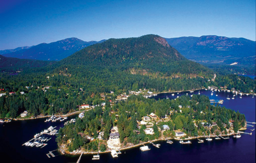
{"type": "MultiPolygon", "coordinates": [[[[204,65],[230,65],[235,62],[238,66],[256,64],[256,42],[245,38],[208,35],[165,39],[185,58],[204,65]]],[[[78,38],[67,38],[49,44],[3,50],[0,54],[19,59],[60,61],[87,46],[103,41],[105,40],[85,42],[78,38]]]]}

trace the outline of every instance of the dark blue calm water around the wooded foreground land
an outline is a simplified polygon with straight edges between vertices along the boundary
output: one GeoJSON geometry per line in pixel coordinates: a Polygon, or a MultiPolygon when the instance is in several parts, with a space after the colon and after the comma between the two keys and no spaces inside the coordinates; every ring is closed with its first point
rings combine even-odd
{"type": "MultiPolygon", "coordinates": [[[[191,95],[190,92],[162,93],[155,98],[176,98],[182,94],[191,95]]],[[[193,93],[198,94],[198,90],[193,93]]],[[[214,92],[211,96],[211,91],[200,90],[201,94],[208,95],[210,99],[223,99],[222,106],[239,110],[246,115],[247,121],[256,121],[256,97],[252,95],[243,95],[243,98],[236,96],[235,99],[227,100],[233,93],[228,92],[214,92]],[[218,96],[216,96],[218,94],[218,96]]],[[[70,117],[71,119],[73,117],[70,117]]],[[[48,145],[42,149],[34,147],[21,146],[26,141],[33,138],[36,133],[50,126],[63,127],[64,122],[44,122],[45,119],[27,120],[27,121],[13,121],[7,124],[0,124],[0,162],[8,159],[9,163],[76,163],[79,156],[61,156],[55,158],[48,158],[46,154],[49,151],[57,149],[55,136],[48,141],[48,145]]],[[[255,126],[255,124],[254,124],[255,126]]],[[[255,127],[248,127],[246,132],[251,132],[249,129],[255,127]]],[[[174,141],[172,145],[165,141],[159,142],[160,148],[157,149],[152,145],[150,151],[141,152],[139,148],[122,151],[117,159],[113,159],[108,154],[100,155],[100,160],[92,161],[91,155],[82,157],[80,163],[255,163],[256,157],[256,131],[253,135],[242,135],[240,139],[230,138],[227,140],[214,140],[212,142],[197,143],[192,141],[190,145],[181,145],[174,141]]],[[[57,153],[56,153],[57,155],[57,153]]]]}

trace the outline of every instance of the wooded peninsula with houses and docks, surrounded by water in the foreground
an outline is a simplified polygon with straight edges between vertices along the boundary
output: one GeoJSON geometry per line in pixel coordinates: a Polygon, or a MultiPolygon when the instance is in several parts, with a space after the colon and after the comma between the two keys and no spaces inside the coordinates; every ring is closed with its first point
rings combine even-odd
{"type": "Polygon", "coordinates": [[[104,105],[61,128],[56,141],[62,154],[93,154],[157,140],[227,136],[245,126],[244,114],[211,105],[205,95],[182,95],[175,100],[131,95],[119,101],[106,95],[104,105]]]}

